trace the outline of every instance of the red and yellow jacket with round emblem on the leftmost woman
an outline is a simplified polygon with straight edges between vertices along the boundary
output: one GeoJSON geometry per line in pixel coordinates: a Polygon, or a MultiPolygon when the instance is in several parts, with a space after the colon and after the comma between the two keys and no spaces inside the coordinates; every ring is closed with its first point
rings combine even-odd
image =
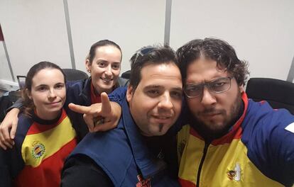
{"type": "Polygon", "coordinates": [[[55,120],[21,114],[15,142],[13,149],[0,150],[1,185],[60,186],[63,163],[77,145],[64,110],[55,120]]]}

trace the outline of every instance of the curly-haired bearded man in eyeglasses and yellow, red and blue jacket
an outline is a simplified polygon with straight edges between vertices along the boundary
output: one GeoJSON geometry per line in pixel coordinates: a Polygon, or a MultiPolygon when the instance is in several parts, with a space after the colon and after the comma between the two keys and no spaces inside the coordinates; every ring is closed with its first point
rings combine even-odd
{"type": "Polygon", "coordinates": [[[292,186],[294,116],[247,98],[247,64],[227,42],[192,40],[177,55],[189,108],[178,132],[181,185],[292,186]]]}

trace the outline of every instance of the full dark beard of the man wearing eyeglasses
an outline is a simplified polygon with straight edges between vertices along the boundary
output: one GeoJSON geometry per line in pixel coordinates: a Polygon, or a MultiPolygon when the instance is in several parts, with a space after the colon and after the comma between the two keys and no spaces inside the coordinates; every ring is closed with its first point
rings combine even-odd
{"type": "Polygon", "coordinates": [[[197,113],[197,116],[209,113],[219,113],[225,116],[224,120],[217,125],[213,120],[205,122],[204,120],[197,118],[197,116],[193,115],[191,112],[189,115],[189,123],[192,128],[194,128],[207,142],[211,142],[212,140],[222,137],[227,134],[244,111],[244,103],[241,99],[241,93],[238,93],[238,96],[236,96],[233,103],[234,104],[229,111],[217,110],[215,108],[205,108],[204,111],[197,113]]]}

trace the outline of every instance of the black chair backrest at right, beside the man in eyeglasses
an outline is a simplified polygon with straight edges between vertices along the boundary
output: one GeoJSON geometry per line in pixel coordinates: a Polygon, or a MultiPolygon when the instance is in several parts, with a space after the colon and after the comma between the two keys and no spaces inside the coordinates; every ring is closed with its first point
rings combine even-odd
{"type": "Polygon", "coordinates": [[[294,114],[294,84],[270,78],[251,78],[246,87],[248,98],[268,101],[273,108],[285,108],[294,114]]]}

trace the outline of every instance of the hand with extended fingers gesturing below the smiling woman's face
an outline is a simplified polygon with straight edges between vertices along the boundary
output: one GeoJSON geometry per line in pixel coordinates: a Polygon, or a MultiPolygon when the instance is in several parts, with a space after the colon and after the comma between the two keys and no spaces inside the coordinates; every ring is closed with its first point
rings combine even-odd
{"type": "Polygon", "coordinates": [[[83,117],[89,132],[116,128],[121,117],[121,106],[118,103],[110,102],[106,93],[101,94],[101,101],[102,103],[95,103],[92,106],[79,106],[70,103],[68,107],[76,113],[84,113],[83,117]]]}

